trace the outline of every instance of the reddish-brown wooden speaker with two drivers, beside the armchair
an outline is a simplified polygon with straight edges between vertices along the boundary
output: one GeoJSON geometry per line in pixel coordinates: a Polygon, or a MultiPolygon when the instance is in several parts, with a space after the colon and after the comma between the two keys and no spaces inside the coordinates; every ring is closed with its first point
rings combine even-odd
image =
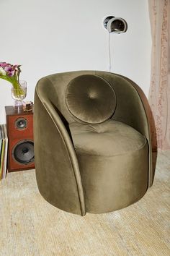
{"type": "Polygon", "coordinates": [[[33,111],[6,106],[8,145],[8,171],[35,168],[33,141],[33,111]]]}

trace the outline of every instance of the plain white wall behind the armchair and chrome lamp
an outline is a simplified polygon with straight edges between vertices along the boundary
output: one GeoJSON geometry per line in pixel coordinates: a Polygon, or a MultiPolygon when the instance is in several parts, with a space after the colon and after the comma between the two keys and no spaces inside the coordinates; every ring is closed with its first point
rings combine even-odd
{"type": "MultiPolygon", "coordinates": [[[[27,101],[37,80],[79,69],[108,71],[107,15],[122,17],[128,31],[111,35],[112,72],[140,85],[148,95],[151,31],[148,0],[0,0],[0,61],[22,64],[27,101]]],[[[0,79],[0,123],[4,106],[14,103],[11,84],[0,79]]]]}

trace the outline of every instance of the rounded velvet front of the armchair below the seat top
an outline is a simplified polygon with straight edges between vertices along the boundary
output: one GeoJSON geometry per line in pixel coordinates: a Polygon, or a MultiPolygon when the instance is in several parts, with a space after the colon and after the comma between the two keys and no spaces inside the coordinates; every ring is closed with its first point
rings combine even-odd
{"type": "Polygon", "coordinates": [[[107,213],[140,200],[148,189],[148,145],[114,157],[79,156],[86,212],[107,213]]]}

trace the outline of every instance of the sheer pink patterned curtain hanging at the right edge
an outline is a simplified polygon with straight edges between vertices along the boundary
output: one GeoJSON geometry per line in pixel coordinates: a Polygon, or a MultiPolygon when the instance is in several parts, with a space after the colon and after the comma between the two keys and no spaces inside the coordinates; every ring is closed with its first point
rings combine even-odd
{"type": "Polygon", "coordinates": [[[148,0],[148,7],[153,42],[149,92],[153,148],[170,150],[170,0],[148,0]]]}

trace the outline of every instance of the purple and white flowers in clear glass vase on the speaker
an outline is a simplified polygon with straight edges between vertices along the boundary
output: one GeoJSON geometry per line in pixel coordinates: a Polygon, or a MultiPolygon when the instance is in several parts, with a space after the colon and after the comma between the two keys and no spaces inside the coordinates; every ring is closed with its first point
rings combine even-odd
{"type": "Polygon", "coordinates": [[[0,62],[0,78],[12,83],[12,98],[15,100],[15,106],[22,106],[22,100],[27,92],[27,83],[19,81],[20,67],[21,65],[0,62]]]}

